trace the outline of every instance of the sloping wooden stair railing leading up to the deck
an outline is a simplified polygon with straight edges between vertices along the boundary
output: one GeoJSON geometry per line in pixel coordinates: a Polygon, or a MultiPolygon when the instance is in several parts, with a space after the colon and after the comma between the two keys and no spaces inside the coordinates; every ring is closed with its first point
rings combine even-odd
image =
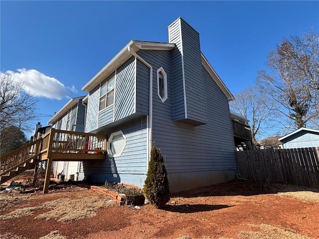
{"type": "Polygon", "coordinates": [[[7,174],[9,171],[36,159],[40,153],[42,138],[30,142],[0,158],[0,176],[7,174]]]}

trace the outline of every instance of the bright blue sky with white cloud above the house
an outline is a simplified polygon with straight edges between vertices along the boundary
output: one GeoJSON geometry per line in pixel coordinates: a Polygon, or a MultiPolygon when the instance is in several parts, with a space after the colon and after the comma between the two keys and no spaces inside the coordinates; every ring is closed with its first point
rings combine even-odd
{"type": "MultiPolygon", "coordinates": [[[[182,17],[231,93],[284,37],[319,32],[319,1],[0,1],[0,71],[38,99],[42,126],[130,40],[168,42],[182,17]]],[[[33,128],[32,128],[33,129],[33,128]]],[[[27,133],[28,134],[28,133],[27,133]]]]}

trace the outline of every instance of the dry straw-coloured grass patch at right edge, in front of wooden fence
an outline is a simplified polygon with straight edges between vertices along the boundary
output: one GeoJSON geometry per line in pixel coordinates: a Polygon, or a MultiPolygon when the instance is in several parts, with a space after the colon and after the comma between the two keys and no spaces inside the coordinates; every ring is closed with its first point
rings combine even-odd
{"type": "Polygon", "coordinates": [[[315,202],[319,203],[319,189],[308,188],[295,185],[277,185],[281,192],[276,195],[280,197],[294,197],[303,202],[315,202]],[[311,190],[311,191],[310,191],[311,190]]]}

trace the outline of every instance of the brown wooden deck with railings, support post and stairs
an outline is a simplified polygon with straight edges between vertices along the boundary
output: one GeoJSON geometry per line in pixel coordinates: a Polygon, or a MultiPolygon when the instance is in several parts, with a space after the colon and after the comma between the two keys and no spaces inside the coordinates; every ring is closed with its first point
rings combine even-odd
{"type": "Polygon", "coordinates": [[[43,193],[47,193],[52,161],[84,161],[106,158],[107,135],[51,128],[41,138],[0,158],[0,177],[31,161],[47,160],[43,193]]]}

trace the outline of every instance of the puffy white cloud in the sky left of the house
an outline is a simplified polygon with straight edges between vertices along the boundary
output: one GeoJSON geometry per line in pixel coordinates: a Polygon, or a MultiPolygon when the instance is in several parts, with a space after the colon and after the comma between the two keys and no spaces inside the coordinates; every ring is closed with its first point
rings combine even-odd
{"type": "Polygon", "coordinates": [[[10,75],[14,80],[24,82],[24,90],[35,97],[45,97],[48,99],[61,100],[68,97],[68,89],[76,93],[74,86],[65,87],[61,82],[53,77],[44,75],[43,73],[31,69],[17,69],[17,72],[6,71],[5,74],[10,75]]]}

